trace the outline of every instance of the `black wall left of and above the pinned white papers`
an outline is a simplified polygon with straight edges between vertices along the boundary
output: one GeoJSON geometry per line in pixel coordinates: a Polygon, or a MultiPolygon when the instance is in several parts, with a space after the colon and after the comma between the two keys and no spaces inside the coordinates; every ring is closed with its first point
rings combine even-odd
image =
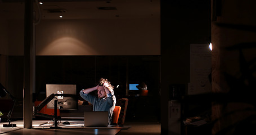
{"type": "Polygon", "coordinates": [[[161,134],[168,134],[170,85],[190,82],[190,44],[210,42],[210,9],[210,0],[161,1],[161,134]]]}

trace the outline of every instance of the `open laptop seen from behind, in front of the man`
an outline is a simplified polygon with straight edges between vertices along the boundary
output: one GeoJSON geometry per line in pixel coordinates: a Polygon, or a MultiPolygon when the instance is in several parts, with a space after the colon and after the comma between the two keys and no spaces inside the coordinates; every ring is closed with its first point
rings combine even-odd
{"type": "Polygon", "coordinates": [[[107,111],[85,111],[84,127],[107,127],[109,113],[107,111]]]}

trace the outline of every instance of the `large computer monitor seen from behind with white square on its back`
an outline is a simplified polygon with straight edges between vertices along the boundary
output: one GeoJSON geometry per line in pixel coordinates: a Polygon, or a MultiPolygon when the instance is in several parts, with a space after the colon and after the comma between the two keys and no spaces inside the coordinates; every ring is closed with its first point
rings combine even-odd
{"type": "Polygon", "coordinates": [[[78,110],[77,86],[75,84],[46,84],[46,97],[52,93],[70,96],[56,96],[47,104],[47,108],[54,109],[54,100],[57,100],[57,107],[62,110],[78,110]]]}

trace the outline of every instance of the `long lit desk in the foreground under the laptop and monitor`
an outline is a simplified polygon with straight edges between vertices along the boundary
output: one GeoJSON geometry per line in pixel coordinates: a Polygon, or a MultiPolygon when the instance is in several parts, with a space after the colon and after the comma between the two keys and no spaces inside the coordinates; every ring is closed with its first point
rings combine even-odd
{"type": "Polygon", "coordinates": [[[110,134],[115,135],[121,131],[121,129],[128,129],[129,127],[83,127],[83,121],[69,120],[70,125],[63,125],[62,122],[59,124],[58,129],[50,128],[50,125],[53,122],[47,123],[47,120],[33,120],[33,128],[23,128],[23,120],[18,120],[12,123],[15,123],[17,127],[14,128],[3,128],[0,124],[0,134],[11,135],[11,134],[20,134],[20,135],[73,135],[73,134],[110,134]],[[47,123],[47,124],[44,124],[47,123]],[[43,125],[41,125],[43,124],[43,125]]]}

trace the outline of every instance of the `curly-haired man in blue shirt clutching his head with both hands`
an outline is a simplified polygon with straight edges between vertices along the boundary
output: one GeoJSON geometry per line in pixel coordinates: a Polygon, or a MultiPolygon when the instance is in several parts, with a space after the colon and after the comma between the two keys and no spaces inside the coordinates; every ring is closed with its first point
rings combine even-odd
{"type": "Polygon", "coordinates": [[[80,96],[93,105],[93,111],[108,111],[109,125],[111,124],[112,114],[115,109],[116,98],[111,83],[101,78],[96,87],[82,89],[80,96]],[[92,91],[98,91],[98,96],[90,95],[92,91]]]}

